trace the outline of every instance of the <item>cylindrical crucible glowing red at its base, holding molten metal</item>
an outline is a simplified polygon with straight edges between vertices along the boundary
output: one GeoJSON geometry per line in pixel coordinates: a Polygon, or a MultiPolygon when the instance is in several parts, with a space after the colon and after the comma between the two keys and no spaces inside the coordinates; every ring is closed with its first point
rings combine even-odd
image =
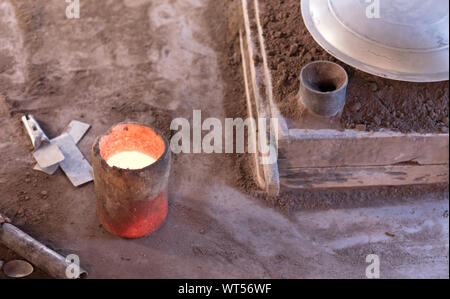
{"type": "Polygon", "coordinates": [[[170,148],[157,130],[119,124],[92,147],[97,214],[109,232],[141,238],[156,231],[168,213],[170,148]]]}

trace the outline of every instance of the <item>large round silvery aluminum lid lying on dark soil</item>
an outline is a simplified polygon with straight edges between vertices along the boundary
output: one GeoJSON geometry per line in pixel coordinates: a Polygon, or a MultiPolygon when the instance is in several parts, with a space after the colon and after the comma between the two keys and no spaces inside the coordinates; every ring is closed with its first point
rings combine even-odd
{"type": "Polygon", "coordinates": [[[314,39],[343,62],[411,82],[449,79],[446,0],[302,0],[314,39]]]}

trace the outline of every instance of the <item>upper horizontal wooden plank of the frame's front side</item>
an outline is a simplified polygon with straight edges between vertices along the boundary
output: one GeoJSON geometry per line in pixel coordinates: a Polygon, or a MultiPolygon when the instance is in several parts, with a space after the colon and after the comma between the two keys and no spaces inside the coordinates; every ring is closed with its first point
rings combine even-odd
{"type": "Polygon", "coordinates": [[[448,164],[448,134],[290,130],[280,168],[448,164]]]}

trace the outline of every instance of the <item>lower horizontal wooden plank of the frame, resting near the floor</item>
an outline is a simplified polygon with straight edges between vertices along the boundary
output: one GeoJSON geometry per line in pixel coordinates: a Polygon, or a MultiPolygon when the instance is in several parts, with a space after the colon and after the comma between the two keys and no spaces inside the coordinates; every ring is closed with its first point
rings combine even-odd
{"type": "Polygon", "coordinates": [[[288,189],[354,188],[446,183],[447,165],[394,165],[280,170],[281,186],[288,189]]]}

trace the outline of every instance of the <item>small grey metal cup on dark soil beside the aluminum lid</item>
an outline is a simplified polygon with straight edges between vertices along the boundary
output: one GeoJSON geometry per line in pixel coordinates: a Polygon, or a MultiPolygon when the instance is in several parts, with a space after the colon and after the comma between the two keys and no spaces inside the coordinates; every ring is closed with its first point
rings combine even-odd
{"type": "Polygon", "coordinates": [[[333,117],[345,106],[348,75],[340,65],[314,61],[300,73],[300,101],[312,113],[333,117]]]}

